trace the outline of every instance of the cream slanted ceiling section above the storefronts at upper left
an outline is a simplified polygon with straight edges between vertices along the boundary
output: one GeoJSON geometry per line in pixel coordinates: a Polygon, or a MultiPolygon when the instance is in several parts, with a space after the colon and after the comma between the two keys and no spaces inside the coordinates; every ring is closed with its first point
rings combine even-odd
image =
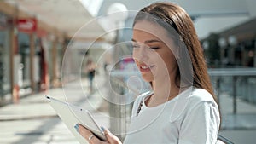
{"type": "Polygon", "coordinates": [[[69,37],[94,39],[102,26],[79,0],[5,0],[69,37]],[[84,27],[84,28],[83,28],[84,27]],[[76,34],[77,33],[77,34],[76,34]]]}

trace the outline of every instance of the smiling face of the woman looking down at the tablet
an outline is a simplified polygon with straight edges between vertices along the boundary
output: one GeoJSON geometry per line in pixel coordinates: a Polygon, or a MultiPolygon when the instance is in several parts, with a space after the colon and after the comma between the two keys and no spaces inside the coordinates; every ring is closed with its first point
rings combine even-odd
{"type": "Polygon", "coordinates": [[[145,81],[174,80],[177,61],[172,52],[177,48],[164,28],[138,21],[133,27],[132,44],[133,58],[145,81]]]}

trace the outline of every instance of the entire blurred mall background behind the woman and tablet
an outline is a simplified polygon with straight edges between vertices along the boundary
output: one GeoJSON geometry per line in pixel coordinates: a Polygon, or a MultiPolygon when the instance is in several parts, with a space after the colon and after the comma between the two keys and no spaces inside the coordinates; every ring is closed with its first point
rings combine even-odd
{"type": "MultiPolygon", "coordinates": [[[[132,101],[149,89],[131,59],[131,25],[153,2],[0,0],[0,143],[78,143],[44,95],[89,109],[124,140],[132,101]]],[[[170,2],[194,21],[218,95],[220,134],[255,143],[256,1],[170,2]]]]}

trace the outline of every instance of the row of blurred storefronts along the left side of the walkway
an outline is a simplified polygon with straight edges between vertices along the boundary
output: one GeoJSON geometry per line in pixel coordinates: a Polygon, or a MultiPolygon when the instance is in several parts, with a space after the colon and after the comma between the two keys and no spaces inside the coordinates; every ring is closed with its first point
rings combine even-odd
{"type": "Polygon", "coordinates": [[[61,86],[64,33],[0,3],[0,104],[61,86]]]}

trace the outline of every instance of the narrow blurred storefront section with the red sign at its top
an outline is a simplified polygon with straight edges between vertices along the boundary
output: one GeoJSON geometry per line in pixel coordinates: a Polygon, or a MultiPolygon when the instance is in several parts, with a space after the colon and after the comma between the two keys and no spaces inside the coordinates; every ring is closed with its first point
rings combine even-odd
{"type": "Polygon", "coordinates": [[[36,89],[34,76],[34,65],[36,49],[36,27],[35,19],[26,18],[17,20],[18,50],[14,55],[15,86],[18,85],[20,95],[30,94],[36,89]]]}

